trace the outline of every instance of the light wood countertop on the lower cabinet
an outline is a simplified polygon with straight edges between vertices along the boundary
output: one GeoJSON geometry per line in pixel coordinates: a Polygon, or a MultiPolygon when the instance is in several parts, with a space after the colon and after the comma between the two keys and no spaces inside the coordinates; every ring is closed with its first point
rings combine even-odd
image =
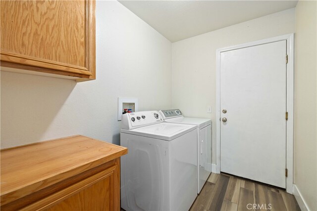
{"type": "Polygon", "coordinates": [[[125,147],[72,136],[1,150],[1,204],[127,154],[125,147]]]}

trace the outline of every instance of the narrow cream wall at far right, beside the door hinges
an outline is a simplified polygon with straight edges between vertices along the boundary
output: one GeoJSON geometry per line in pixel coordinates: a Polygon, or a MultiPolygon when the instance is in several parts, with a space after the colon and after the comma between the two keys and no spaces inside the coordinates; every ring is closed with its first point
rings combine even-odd
{"type": "Polygon", "coordinates": [[[307,208],[317,210],[317,3],[300,0],[295,34],[295,177],[307,208]]]}

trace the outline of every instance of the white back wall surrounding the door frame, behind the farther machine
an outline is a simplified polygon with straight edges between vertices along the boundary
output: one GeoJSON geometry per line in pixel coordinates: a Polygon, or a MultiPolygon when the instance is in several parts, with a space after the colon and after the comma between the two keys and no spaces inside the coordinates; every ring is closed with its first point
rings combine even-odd
{"type": "Polygon", "coordinates": [[[185,116],[211,118],[215,164],[216,50],[295,32],[295,8],[172,44],[172,106],[185,116]],[[212,106],[207,113],[206,106],[212,106]]]}

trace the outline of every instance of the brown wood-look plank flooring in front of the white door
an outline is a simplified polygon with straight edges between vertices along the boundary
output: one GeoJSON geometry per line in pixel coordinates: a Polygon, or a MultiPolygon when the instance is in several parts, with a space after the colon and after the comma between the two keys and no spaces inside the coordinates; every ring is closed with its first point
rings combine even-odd
{"type": "Polygon", "coordinates": [[[211,173],[190,211],[300,211],[285,191],[227,174],[211,173]],[[255,209],[254,209],[255,208],[255,209]]]}

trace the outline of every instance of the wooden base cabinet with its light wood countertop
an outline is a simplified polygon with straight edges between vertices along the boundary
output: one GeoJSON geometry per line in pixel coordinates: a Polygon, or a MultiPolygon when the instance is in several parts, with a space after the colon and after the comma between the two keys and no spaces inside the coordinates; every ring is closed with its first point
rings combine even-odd
{"type": "Polygon", "coordinates": [[[1,210],[119,210],[125,154],[84,136],[2,150],[1,210]]]}

